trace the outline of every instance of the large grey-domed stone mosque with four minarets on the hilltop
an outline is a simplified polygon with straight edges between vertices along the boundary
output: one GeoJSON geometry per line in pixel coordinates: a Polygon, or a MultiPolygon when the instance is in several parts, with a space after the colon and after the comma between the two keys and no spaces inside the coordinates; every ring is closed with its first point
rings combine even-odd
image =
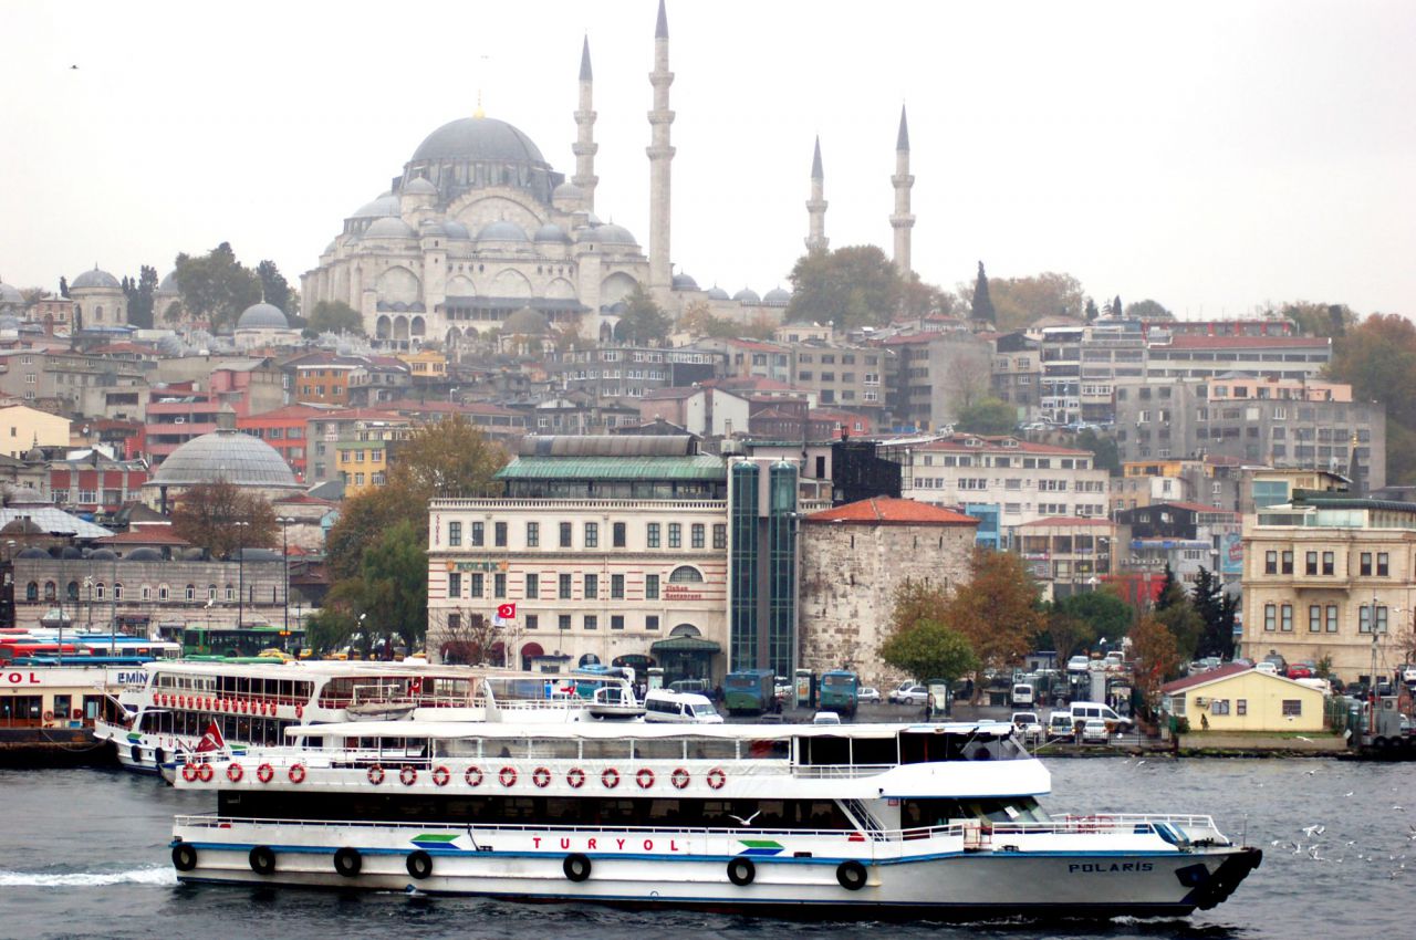
{"type": "MultiPolygon", "coordinates": [[[[694,302],[718,317],[780,323],[790,293],[759,296],[701,289],[670,265],[670,195],[674,112],[668,89],[668,18],[660,0],[654,30],[654,89],[649,246],[622,225],[596,215],[595,106],[590,47],[581,50],[575,173],[566,180],[537,144],[480,108],[433,130],[391,188],[344,219],[343,229],[300,277],[306,310],[321,300],[358,310],[364,330],[385,350],[439,341],[456,351],[493,331],[573,327],[616,338],[624,297],[644,287],[671,316],[694,302]],[[508,323],[510,321],[510,323],[508,323]]],[[[901,115],[896,144],[895,263],[909,270],[909,143],[901,115]],[[901,149],[902,147],[902,149],[901,149]]],[[[811,168],[809,248],[826,248],[820,144],[811,168]]]]}

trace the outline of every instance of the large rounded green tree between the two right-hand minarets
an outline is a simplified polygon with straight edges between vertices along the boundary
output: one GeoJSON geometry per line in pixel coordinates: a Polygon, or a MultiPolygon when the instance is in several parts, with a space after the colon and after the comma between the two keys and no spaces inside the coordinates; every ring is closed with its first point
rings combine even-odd
{"type": "Polygon", "coordinates": [[[838,330],[885,326],[903,294],[903,279],[874,245],[809,252],[790,279],[786,321],[834,323],[838,330]]]}

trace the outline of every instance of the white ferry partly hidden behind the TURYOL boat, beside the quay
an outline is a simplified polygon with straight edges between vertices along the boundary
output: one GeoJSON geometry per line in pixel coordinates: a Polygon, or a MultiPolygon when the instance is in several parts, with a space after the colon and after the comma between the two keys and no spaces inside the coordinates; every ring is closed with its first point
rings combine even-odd
{"type": "Polygon", "coordinates": [[[361,719],[559,722],[643,713],[616,675],[552,675],[419,663],[159,661],[119,701],[123,718],[99,719],[129,770],[170,776],[212,725],[225,745],[276,746],[286,729],[361,719]]]}

